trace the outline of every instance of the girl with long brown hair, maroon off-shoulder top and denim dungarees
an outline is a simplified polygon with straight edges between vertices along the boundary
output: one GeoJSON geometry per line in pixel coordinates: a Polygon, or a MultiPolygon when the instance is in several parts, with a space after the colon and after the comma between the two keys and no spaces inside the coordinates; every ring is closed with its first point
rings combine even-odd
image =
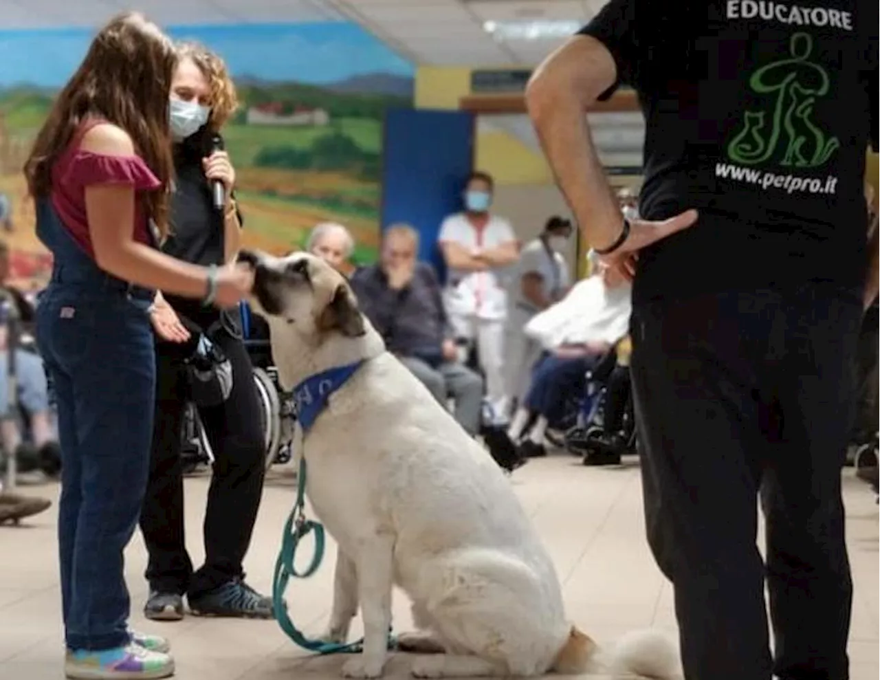
{"type": "Polygon", "coordinates": [[[243,269],[197,267],[158,250],[168,233],[176,63],[172,42],[142,15],[112,19],[55,100],[25,167],[37,234],[55,256],[37,335],[58,404],[71,678],[173,673],[165,641],[128,628],[122,559],[149,471],[152,289],[226,307],[252,282],[243,269]]]}

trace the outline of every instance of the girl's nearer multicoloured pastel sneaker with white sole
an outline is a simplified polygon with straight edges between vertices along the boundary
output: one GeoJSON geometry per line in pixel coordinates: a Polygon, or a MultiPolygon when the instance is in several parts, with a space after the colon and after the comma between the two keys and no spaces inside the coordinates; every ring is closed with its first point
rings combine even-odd
{"type": "Polygon", "coordinates": [[[152,680],[172,675],[174,660],[168,654],[134,644],[99,652],[73,650],[64,659],[64,676],[71,680],[152,680]]]}

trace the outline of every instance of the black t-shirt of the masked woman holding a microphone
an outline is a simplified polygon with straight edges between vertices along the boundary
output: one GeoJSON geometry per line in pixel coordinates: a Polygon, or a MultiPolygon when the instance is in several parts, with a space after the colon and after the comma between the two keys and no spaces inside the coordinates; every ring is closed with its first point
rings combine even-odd
{"type": "MultiPolygon", "coordinates": [[[[174,193],[171,201],[171,233],[163,252],[195,265],[224,264],[224,216],[213,205],[211,187],[202,159],[209,156],[203,133],[196,133],[174,147],[174,193]]],[[[241,216],[239,214],[239,220],[241,216]]],[[[165,295],[172,307],[205,327],[219,317],[213,307],[189,298],[165,295]]]]}

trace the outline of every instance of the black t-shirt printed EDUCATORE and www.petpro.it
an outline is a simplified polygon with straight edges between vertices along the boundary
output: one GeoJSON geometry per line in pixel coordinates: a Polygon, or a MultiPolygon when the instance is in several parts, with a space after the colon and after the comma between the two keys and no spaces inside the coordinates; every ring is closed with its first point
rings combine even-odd
{"type": "Polygon", "coordinates": [[[700,211],[642,253],[635,302],[862,286],[878,27],[876,0],[611,0],[583,28],[645,115],[640,213],[700,211]]]}

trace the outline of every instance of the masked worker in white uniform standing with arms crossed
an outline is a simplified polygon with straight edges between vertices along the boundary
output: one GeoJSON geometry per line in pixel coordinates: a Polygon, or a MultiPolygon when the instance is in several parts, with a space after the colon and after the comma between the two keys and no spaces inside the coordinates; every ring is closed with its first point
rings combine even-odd
{"type": "Polygon", "coordinates": [[[486,377],[486,398],[495,425],[507,420],[504,333],[507,292],[502,271],[519,257],[510,223],[492,214],[495,183],[473,172],[465,189],[465,210],[448,216],[437,237],[449,269],[444,303],[456,338],[475,342],[486,377]]]}

